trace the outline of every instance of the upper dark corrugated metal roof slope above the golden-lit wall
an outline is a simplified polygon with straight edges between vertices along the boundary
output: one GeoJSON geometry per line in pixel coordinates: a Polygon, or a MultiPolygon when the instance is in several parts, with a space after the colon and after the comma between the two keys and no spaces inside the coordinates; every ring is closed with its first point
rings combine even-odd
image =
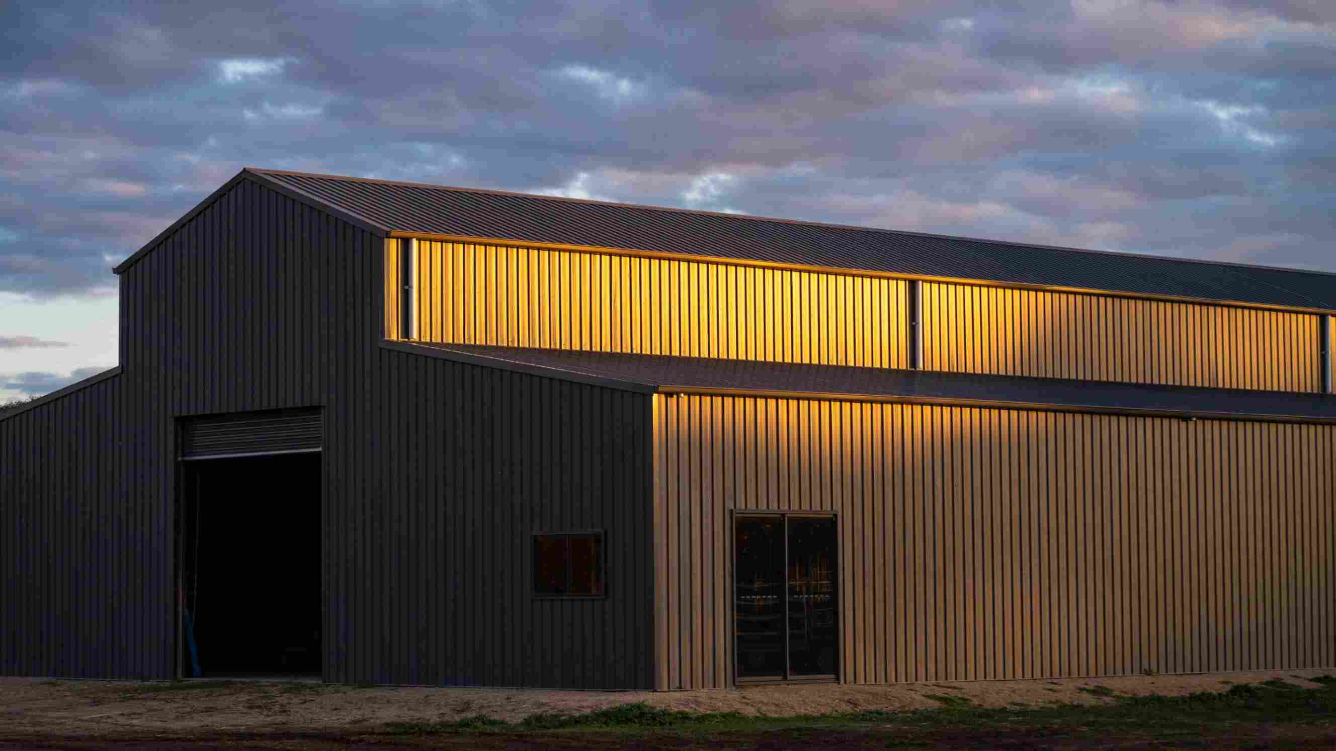
{"type": "Polygon", "coordinates": [[[1336,274],[248,170],[385,231],[1336,310],[1336,274]]]}

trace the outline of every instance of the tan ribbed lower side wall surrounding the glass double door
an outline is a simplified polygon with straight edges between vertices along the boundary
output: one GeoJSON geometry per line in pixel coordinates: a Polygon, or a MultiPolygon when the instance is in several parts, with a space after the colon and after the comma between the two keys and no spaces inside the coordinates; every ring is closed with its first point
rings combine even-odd
{"type": "Polygon", "coordinates": [[[1336,664],[1333,428],[653,398],[657,688],[732,683],[731,509],[839,513],[846,682],[1336,664]]]}

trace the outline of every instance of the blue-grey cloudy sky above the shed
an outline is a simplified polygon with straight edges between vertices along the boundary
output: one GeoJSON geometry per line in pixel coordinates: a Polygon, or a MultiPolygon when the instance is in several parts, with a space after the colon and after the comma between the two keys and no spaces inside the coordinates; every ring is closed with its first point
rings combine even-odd
{"type": "Polygon", "coordinates": [[[1336,270],[1329,0],[270,5],[0,9],[0,401],[246,164],[1336,270]]]}

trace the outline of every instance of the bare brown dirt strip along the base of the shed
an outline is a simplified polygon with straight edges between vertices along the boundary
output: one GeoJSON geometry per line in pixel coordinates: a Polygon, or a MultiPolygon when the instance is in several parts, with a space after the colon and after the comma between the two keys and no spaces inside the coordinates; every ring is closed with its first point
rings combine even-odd
{"type": "MultiPolygon", "coordinates": [[[[729,691],[604,692],[498,688],[371,687],[319,683],[128,683],[0,678],[4,739],[134,734],[355,732],[383,723],[437,723],[473,715],[520,720],[538,712],[585,712],[645,702],[697,712],[803,715],[941,707],[933,696],[959,696],[985,707],[1098,704],[1101,694],[1181,695],[1225,691],[1241,683],[1305,680],[1327,669],[1100,679],[912,683],[895,686],[763,686],[729,691]]],[[[73,746],[71,746],[73,747],[73,746]]]]}

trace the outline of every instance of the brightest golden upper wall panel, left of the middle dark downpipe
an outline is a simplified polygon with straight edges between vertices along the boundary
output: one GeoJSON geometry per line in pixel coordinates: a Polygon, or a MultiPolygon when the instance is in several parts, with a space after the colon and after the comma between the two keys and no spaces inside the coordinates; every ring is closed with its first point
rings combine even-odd
{"type": "Polygon", "coordinates": [[[418,242],[418,338],[904,367],[907,282],[418,242]]]}

